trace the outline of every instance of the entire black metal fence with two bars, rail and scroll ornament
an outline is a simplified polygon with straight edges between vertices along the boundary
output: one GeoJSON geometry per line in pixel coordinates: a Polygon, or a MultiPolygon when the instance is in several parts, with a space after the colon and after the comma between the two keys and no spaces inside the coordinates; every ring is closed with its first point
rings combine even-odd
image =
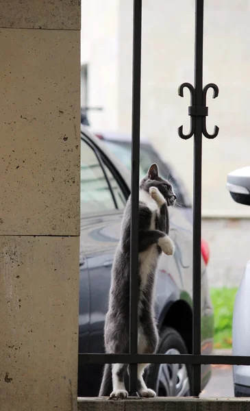
{"type": "Polygon", "coordinates": [[[142,0],[134,0],[133,28],[133,101],[132,101],[132,216],[131,216],[131,247],[130,247],[130,318],[129,318],[129,353],[102,354],[79,353],[82,364],[129,364],[129,395],[135,396],[137,391],[137,364],[190,364],[192,367],[191,393],[198,397],[201,392],[201,364],[235,364],[250,365],[247,356],[214,356],[201,355],[201,164],[202,135],[215,138],[214,133],[208,134],[205,117],[208,116],[206,95],[209,88],[214,90],[213,98],[218,96],[216,84],[203,87],[203,6],[204,0],[195,0],[195,86],[184,83],[179,87],[179,96],[183,97],[184,88],[190,91],[191,105],[190,132],[184,134],[179,127],[181,138],[194,136],[194,192],[193,192],[193,245],[192,245],[192,354],[138,354],[138,192],[139,192],[139,161],[140,161],[140,72],[141,72],[141,33],[142,33],[142,0]]]}

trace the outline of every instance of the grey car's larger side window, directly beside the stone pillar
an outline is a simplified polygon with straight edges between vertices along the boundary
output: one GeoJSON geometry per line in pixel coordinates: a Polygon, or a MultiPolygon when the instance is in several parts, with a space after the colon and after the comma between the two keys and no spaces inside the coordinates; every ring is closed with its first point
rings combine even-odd
{"type": "Polygon", "coordinates": [[[107,179],[95,151],[81,140],[81,212],[116,210],[107,179]]]}

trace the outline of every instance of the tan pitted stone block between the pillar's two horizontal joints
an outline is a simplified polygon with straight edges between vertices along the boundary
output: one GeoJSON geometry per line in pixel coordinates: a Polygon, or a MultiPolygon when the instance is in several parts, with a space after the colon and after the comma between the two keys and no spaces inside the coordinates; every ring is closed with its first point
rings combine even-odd
{"type": "Polygon", "coordinates": [[[79,32],[0,30],[0,234],[79,234],[79,32]]]}

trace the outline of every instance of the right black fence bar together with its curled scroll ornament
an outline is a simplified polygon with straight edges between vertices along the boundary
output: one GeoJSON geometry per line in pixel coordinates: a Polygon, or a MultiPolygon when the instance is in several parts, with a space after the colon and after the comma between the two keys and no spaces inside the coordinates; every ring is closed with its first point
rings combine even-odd
{"type": "MultiPolygon", "coordinates": [[[[214,90],[214,99],[218,96],[216,84],[208,84],[203,88],[203,15],[204,0],[195,0],[195,86],[184,83],[179,87],[179,95],[183,97],[184,88],[190,91],[191,105],[188,114],[191,117],[190,132],[184,134],[183,126],[178,134],[187,140],[194,136],[194,172],[193,172],[193,223],[192,223],[192,354],[201,355],[201,172],[202,172],[202,134],[206,138],[215,138],[206,129],[205,117],[208,116],[206,97],[209,88],[214,90]]],[[[191,393],[199,397],[201,393],[201,364],[192,364],[191,393]]]]}

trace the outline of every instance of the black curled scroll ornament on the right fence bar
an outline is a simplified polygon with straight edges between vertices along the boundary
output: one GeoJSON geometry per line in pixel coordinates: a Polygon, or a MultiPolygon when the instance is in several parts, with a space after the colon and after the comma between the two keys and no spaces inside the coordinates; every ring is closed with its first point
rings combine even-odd
{"type": "Polygon", "coordinates": [[[208,116],[208,107],[206,106],[207,92],[209,88],[214,90],[213,99],[218,97],[218,86],[214,83],[207,84],[202,90],[202,105],[197,106],[195,104],[195,88],[190,83],[183,83],[179,86],[178,94],[180,97],[184,96],[184,88],[188,88],[190,91],[190,102],[191,105],[188,107],[188,114],[190,115],[190,132],[188,134],[183,133],[183,125],[178,128],[179,137],[188,140],[195,134],[195,117],[202,117],[202,133],[206,138],[215,138],[218,136],[218,127],[214,127],[214,133],[209,134],[206,128],[205,116],[208,116]]]}

